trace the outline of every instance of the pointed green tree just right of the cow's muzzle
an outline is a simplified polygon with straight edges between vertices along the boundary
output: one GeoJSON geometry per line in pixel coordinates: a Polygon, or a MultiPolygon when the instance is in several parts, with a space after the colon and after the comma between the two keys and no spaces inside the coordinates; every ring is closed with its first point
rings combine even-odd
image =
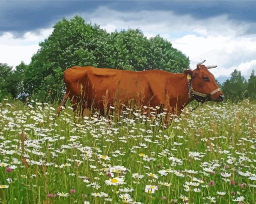
{"type": "Polygon", "coordinates": [[[232,100],[241,100],[246,97],[247,82],[241,72],[234,70],[231,73],[231,78],[226,80],[223,84],[222,90],[232,100]]]}

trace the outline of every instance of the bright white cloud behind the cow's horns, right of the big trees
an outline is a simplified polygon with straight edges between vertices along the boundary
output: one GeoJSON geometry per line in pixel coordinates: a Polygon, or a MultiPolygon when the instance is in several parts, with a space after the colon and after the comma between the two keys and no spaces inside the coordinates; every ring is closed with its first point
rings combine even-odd
{"type": "Polygon", "coordinates": [[[191,68],[206,59],[205,64],[217,65],[211,72],[216,76],[230,75],[234,69],[249,75],[247,61],[254,62],[256,53],[255,39],[241,36],[196,37],[187,35],[173,40],[174,47],[181,50],[191,60],[191,68]],[[247,72],[245,72],[247,70],[247,72]]]}

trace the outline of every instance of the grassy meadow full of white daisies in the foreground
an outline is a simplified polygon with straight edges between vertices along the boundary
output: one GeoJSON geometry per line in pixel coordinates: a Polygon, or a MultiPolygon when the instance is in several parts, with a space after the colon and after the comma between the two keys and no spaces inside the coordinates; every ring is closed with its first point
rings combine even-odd
{"type": "Polygon", "coordinates": [[[168,128],[157,108],[74,120],[4,100],[0,203],[256,203],[255,102],[187,107],[168,128]]]}

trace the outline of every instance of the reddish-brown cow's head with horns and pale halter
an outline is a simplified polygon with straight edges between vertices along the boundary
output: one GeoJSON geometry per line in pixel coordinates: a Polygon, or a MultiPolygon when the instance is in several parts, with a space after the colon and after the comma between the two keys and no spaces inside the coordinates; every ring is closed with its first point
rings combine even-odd
{"type": "Polygon", "coordinates": [[[197,68],[193,71],[185,70],[184,74],[191,76],[193,98],[197,101],[216,101],[220,102],[224,98],[224,94],[215,82],[213,74],[209,69],[217,66],[202,65],[205,60],[197,64],[197,68]]]}

